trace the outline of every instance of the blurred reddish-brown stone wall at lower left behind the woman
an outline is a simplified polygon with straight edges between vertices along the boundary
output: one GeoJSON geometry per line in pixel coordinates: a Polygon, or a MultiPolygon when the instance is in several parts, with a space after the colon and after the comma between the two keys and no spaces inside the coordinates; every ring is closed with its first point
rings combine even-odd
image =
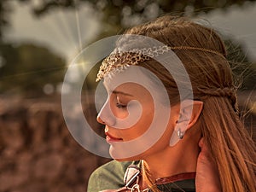
{"type": "Polygon", "coordinates": [[[85,192],[108,161],[73,139],[55,101],[1,100],[1,192],[85,192]]]}

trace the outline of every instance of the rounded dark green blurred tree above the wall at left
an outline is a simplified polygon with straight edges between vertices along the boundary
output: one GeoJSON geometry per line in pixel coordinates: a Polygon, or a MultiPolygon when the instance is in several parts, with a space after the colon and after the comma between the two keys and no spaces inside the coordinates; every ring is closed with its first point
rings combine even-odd
{"type": "Polygon", "coordinates": [[[44,96],[45,91],[52,93],[62,82],[66,63],[49,49],[32,44],[2,44],[0,53],[0,93],[44,96]]]}

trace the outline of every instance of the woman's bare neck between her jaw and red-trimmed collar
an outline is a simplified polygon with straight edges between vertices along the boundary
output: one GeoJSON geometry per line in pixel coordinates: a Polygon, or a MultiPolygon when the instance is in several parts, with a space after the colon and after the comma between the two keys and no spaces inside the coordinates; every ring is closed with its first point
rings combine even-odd
{"type": "Polygon", "coordinates": [[[174,147],[168,146],[157,154],[145,157],[143,165],[147,167],[154,181],[160,177],[195,172],[198,154],[197,144],[182,140],[174,147]]]}

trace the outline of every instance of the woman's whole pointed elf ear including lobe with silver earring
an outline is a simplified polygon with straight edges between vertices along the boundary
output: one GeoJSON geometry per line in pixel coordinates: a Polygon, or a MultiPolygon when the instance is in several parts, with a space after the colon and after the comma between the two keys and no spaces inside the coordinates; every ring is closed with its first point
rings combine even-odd
{"type": "Polygon", "coordinates": [[[180,103],[179,118],[177,119],[175,130],[172,133],[170,145],[175,145],[183,139],[185,131],[195,125],[203,108],[203,102],[194,100],[184,100],[180,103]]]}

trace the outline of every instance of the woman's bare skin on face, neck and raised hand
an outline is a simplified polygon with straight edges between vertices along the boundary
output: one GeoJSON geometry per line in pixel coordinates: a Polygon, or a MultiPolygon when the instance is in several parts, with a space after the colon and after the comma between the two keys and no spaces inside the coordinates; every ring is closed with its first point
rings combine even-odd
{"type": "MultiPolygon", "coordinates": [[[[121,76],[115,77],[115,80],[119,80],[119,78],[121,76]]],[[[154,117],[154,100],[146,88],[131,82],[120,84],[116,87],[113,84],[115,84],[113,80],[104,83],[108,91],[107,104],[109,104],[113,115],[109,115],[108,111],[106,111],[107,109],[105,110],[103,107],[97,117],[98,122],[105,125],[106,138],[110,145],[112,143],[118,144],[131,141],[142,136],[154,117]],[[127,129],[115,128],[116,119],[125,119],[129,115],[127,105],[132,100],[136,100],[141,104],[143,113],[140,119],[137,120],[135,125],[127,129]]],[[[217,174],[215,166],[212,166],[207,148],[202,143],[199,145],[201,131],[197,119],[201,113],[203,103],[195,101],[192,102],[192,105],[193,111],[189,118],[187,118],[186,107],[189,108],[190,106],[185,105],[183,110],[180,110],[179,103],[171,106],[168,125],[166,125],[166,130],[160,140],[142,154],[119,160],[143,160],[154,176],[153,179],[169,177],[183,172],[198,172],[196,175],[197,191],[218,192],[218,187],[215,188],[215,185],[219,186],[218,181],[214,179],[217,174]],[[169,141],[172,137],[172,132],[176,126],[183,127],[183,125],[186,125],[183,128],[185,129],[183,131],[186,131],[185,136],[171,147],[169,141]],[[211,177],[208,177],[209,173],[212,174],[211,177]],[[205,183],[206,178],[209,178],[207,179],[207,184],[205,183]]],[[[112,147],[110,150],[116,150],[114,145],[112,147]]],[[[148,187],[144,182],[140,183],[140,185],[143,189],[148,187]]]]}

